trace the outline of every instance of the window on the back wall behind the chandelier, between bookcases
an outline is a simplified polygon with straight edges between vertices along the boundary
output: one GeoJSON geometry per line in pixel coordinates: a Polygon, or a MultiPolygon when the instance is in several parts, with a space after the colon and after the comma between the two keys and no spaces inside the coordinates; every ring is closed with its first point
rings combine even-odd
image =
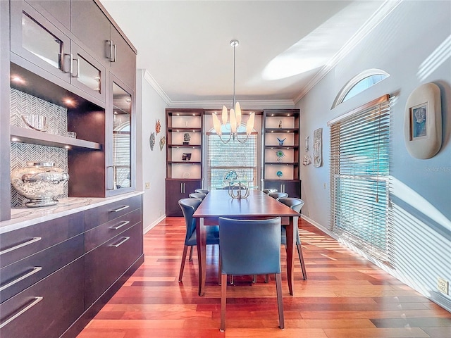
{"type": "MultiPolygon", "coordinates": [[[[245,137],[245,130],[241,125],[240,137],[245,137]]],[[[223,136],[227,132],[224,129],[223,136]]],[[[245,143],[230,140],[227,144],[213,129],[206,134],[206,189],[228,187],[224,178],[230,170],[237,173],[238,180],[249,180],[251,186],[257,186],[257,162],[257,132],[252,132],[245,143]]]]}

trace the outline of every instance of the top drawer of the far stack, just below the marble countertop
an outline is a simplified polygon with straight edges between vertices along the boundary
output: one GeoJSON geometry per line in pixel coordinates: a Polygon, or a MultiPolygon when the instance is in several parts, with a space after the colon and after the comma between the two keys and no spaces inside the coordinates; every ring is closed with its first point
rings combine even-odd
{"type": "Polygon", "coordinates": [[[141,208],[142,196],[133,196],[85,211],[85,231],[141,208]]]}

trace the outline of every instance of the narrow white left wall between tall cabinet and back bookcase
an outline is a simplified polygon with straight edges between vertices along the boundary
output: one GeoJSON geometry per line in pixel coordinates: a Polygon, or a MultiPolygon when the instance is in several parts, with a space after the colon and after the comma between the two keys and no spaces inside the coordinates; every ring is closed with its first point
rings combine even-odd
{"type": "Polygon", "coordinates": [[[147,70],[137,70],[137,189],[144,191],[143,227],[149,231],[165,213],[166,144],[160,151],[160,139],[166,136],[166,102],[150,84],[147,70]],[[160,120],[161,131],[155,132],[156,121],[160,120]],[[154,150],[150,150],[149,137],[155,132],[154,150]],[[145,183],[150,189],[145,189],[145,183]]]}

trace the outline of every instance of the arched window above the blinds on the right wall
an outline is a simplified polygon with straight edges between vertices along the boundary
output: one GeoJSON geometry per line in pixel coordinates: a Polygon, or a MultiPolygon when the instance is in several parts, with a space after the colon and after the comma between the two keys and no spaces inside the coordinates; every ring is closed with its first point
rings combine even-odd
{"type": "Polygon", "coordinates": [[[345,87],[342,87],[337,97],[335,97],[332,108],[335,108],[342,102],[350,99],[352,96],[356,96],[374,84],[381,82],[388,76],[390,76],[388,73],[376,68],[365,70],[359,75],[354,76],[347,84],[345,84],[345,87]]]}

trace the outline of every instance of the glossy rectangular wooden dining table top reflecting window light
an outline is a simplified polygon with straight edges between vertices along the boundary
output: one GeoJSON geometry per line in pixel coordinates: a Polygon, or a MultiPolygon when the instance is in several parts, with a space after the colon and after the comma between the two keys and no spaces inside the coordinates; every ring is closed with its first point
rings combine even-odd
{"type": "Polygon", "coordinates": [[[227,189],[211,190],[194,212],[194,218],[295,217],[299,213],[260,190],[251,190],[247,199],[232,199],[227,189]]]}

